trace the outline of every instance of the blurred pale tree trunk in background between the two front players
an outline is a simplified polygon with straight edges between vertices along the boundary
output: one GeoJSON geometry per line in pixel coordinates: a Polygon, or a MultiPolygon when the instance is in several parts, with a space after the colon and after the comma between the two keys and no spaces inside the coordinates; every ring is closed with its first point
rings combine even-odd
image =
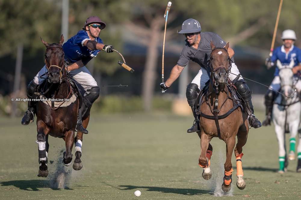
{"type": "MultiPolygon", "coordinates": [[[[145,68],[143,72],[143,83],[142,83],[142,98],[144,111],[148,112],[152,109],[152,100],[154,96],[154,86],[156,80],[156,65],[158,61],[158,50],[157,45],[160,40],[160,27],[161,23],[157,20],[153,20],[150,31],[151,36],[147,47],[145,68]]],[[[159,75],[158,75],[159,76],[159,75]]]]}

